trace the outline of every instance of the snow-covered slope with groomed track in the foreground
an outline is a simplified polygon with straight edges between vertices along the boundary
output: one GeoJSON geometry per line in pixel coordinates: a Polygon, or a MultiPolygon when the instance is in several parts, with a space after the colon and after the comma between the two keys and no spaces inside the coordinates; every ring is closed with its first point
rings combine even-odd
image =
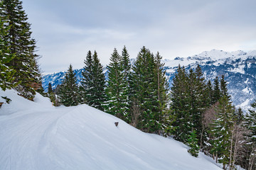
{"type": "Polygon", "coordinates": [[[40,94],[32,102],[14,90],[0,96],[12,100],[0,108],[0,169],[220,169],[202,153],[192,157],[181,142],[87,105],[55,108],[40,94]]]}

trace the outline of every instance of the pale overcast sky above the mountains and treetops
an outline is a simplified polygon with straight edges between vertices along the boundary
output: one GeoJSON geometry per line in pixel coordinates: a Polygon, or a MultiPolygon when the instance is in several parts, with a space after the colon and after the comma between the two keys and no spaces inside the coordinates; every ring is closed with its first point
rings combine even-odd
{"type": "Polygon", "coordinates": [[[88,50],[110,62],[124,45],[164,59],[212,49],[256,50],[255,0],[22,0],[43,74],[84,67],[88,50]]]}

